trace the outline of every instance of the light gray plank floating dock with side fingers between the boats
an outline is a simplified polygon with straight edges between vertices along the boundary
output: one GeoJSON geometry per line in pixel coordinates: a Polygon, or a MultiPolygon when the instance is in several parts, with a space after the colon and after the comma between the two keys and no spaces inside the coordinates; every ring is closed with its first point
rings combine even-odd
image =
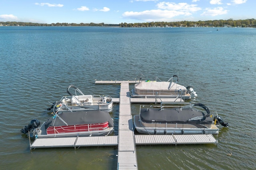
{"type": "Polygon", "coordinates": [[[89,147],[89,146],[118,146],[118,170],[137,170],[136,145],[178,145],[178,144],[217,144],[213,135],[135,135],[131,113],[131,103],[175,103],[186,104],[175,99],[130,98],[129,84],[135,81],[97,81],[95,84],[120,84],[120,98],[113,98],[119,103],[118,136],[104,137],[65,137],[39,138],[30,145],[30,149],[49,147],[89,147]]]}

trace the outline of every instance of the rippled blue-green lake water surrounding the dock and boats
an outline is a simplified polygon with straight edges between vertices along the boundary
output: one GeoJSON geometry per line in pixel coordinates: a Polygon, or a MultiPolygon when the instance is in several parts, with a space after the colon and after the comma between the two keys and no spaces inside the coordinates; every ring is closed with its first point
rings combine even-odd
{"type": "MultiPolygon", "coordinates": [[[[67,95],[70,84],[118,98],[120,86],[95,79],[167,81],[174,74],[194,86],[192,103],[230,127],[220,126],[217,146],[137,146],[138,169],[255,169],[256,29],[216,29],[0,27],[0,169],[116,169],[117,147],[30,151],[20,129],[34,118],[46,121],[48,102],[67,95]]],[[[115,104],[112,135],[118,111],[115,104]]],[[[132,115],[138,113],[132,104],[132,115]]]]}

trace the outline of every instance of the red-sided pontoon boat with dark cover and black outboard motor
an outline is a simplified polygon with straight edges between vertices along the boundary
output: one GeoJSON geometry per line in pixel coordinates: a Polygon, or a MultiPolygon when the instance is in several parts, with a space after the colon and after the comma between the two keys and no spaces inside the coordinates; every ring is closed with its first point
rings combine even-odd
{"type": "Polygon", "coordinates": [[[28,133],[34,129],[33,135],[36,138],[104,136],[114,130],[114,122],[109,113],[100,110],[62,111],[50,117],[40,127],[40,122],[33,120],[32,125],[30,123],[25,126],[21,132],[28,133]]]}

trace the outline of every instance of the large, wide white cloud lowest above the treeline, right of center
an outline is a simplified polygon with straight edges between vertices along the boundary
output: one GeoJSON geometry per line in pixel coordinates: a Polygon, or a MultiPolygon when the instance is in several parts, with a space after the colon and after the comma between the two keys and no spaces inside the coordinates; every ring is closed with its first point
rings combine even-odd
{"type": "Polygon", "coordinates": [[[174,10],[146,10],[142,12],[124,12],[124,18],[130,18],[141,21],[170,21],[171,18],[179,15],[189,16],[189,12],[174,10]]]}

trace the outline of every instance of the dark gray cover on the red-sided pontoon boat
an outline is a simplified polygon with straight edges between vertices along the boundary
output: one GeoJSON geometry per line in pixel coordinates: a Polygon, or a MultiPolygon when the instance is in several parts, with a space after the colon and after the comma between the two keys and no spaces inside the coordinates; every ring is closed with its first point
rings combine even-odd
{"type": "MultiPolygon", "coordinates": [[[[110,117],[108,111],[92,110],[92,111],[63,111],[57,114],[68,125],[84,125],[92,123],[109,122],[110,127],[114,127],[114,121],[110,117]]],[[[65,126],[66,124],[57,116],[54,115],[45,123],[45,129],[49,126],[65,126]]]]}

